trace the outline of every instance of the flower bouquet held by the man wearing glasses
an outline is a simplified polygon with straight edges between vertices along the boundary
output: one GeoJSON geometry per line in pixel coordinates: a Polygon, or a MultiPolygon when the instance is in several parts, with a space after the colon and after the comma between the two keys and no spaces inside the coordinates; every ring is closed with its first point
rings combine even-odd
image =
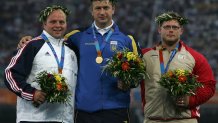
{"type": "Polygon", "coordinates": [[[176,69],[163,74],[158,83],[165,87],[173,97],[195,95],[195,90],[202,87],[196,75],[188,70],[176,69]]]}

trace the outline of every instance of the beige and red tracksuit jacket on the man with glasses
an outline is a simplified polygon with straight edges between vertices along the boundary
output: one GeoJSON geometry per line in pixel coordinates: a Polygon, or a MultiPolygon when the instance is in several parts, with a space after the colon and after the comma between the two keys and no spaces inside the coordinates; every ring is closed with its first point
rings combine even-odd
{"type": "MultiPolygon", "coordinates": [[[[159,49],[158,45],[154,48],[142,49],[143,60],[146,65],[148,78],[141,84],[142,100],[144,102],[145,119],[150,120],[174,120],[174,119],[196,119],[200,117],[199,105],[208,101],[215,92],[215,78],[206,58],[184,42],[180,41],[180,47],[169,65],[169,70],[186,69],[199,76],[198,81],[203,84],[203,88],[196,90],[196,95],[189,98],[187,110],[181,114],[176,114],[175,104],[167,91],[161,87],[157,81],[161,77],[159,49]],[[146,103],[145,103],[146,102],[146,103]]],[[[166,66],[171,52],[163,50],[164,66],[166,66]]],[[[178,121],[177,121],[178,122],[178,121]]],[[[147,123],[147,122],[146,122],[147,123]]]]}

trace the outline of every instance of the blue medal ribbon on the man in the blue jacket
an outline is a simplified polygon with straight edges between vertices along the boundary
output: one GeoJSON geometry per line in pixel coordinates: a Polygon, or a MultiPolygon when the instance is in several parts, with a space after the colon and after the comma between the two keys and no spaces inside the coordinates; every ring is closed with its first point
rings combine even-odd
{"type": "Polygon", "coordinates": [[[111,28],[110,31],[108,32],[106,38],[104,39],[104,41],[103,41],[101,47],[100,47],[99,41],[98,41],[98,39],[97,39],[97,37],[96,37],[96,34],[95,34],[94,24],[92,25],[92,33],[93,33],[93,36],[94,36],[93,38],[94,38],[94,40],[95,40],[95,48],[96,48],[97,56],[98,56],[98,57],[101,57],[101,56],[102,56],[102,50],[103,50],[104,47],[106,46],[106,43],[109,41],[109,39],[110,39],[111,35],[113,34],[113,32],[114,32],[114,29],[111,28]]]}

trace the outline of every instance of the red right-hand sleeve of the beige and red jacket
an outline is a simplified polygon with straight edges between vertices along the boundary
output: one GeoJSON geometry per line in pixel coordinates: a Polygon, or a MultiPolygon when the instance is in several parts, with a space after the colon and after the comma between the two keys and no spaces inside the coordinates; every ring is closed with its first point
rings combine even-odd
{"type": "Polygon", "coordinates": [[[215,93],[216,81],[212,69],[203,55],[198,55],[193,73],[198,76],[198,81],[203,84],[203,87],[198,88],[196,95],[191,96],[189,107],[197,107],[208,101],[215,93]]]}

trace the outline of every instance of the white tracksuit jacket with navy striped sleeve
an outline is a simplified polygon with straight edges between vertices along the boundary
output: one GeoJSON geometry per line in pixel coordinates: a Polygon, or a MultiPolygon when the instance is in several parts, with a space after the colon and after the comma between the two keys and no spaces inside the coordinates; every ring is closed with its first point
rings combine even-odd
{"type": "MultiPolygon", "coordinates": [[[[46,31],[43,33],[48,37],[54,47],[60,61],[63,40],[54,39],[46,31]]],[[[20,121],[56,121],[73,123],[74,96],[77,80],[77,57],[75,52],[65,45],[65,58],[63,76],[70,86],[70,105],[60,103],[43,103],[38,108],[33,106],[33,95],[35,89],[40,89],[34,82],[35,77],[41,71],[58,73],[58,65],[52,50],[40,36],[30,41],[25,47],[18,50],[11,59],[5,70],[5,84],[13,91],[17,98],[17,123],[20,121]]]]}

